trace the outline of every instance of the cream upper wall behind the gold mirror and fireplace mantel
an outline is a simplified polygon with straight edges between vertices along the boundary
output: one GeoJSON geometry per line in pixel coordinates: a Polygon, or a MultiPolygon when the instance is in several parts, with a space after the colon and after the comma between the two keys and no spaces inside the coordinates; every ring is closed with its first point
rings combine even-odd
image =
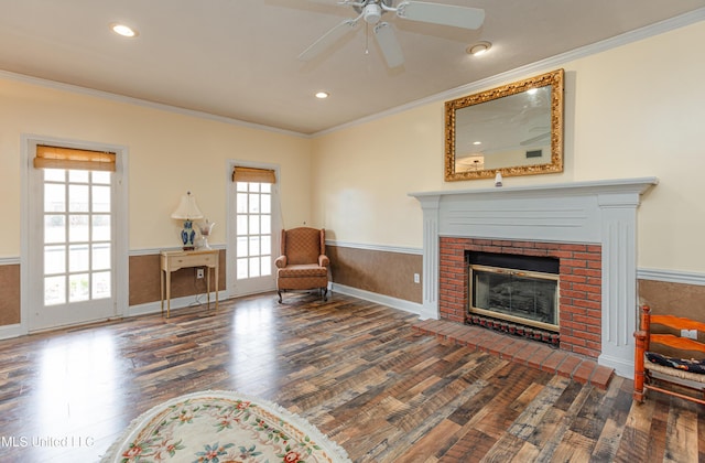
{"type": "MultiPolygon", "coordinates": [[[[639,211],[638,265],[702,272],[702,43],[705,22],[565,63],[565,172],[505,185],[658,176],[639,211]]],[[[443,139],[443,101],[316,138],[315,220],[341,241],[420,248],[422,213],[409,192],[494,182],[445,183],[443,139]]]]}

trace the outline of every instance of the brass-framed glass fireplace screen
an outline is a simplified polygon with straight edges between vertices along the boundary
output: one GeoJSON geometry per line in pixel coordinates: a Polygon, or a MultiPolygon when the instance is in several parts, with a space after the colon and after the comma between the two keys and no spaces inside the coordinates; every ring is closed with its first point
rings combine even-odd
{"type": "Polygon", "coordinates": [[[558,276],[470,266],[470,312],[558,331],[558,276]]]}

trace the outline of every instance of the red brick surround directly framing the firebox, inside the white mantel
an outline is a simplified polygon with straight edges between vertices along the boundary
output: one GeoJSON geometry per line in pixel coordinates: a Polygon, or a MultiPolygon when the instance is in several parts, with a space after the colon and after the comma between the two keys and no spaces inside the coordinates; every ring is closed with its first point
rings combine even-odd
{"type": "Polygon", "coordinates": [[[601,246],[475,238],[440,238],[441,319],[464,323],[468,309],[466,251],[560,259],[561,348],[597,357],[601,351],[601,246]]]}

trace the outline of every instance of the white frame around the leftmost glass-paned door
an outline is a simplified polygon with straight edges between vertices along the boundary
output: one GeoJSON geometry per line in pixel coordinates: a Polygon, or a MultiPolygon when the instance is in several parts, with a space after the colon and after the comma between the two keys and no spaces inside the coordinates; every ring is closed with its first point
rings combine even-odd
{"type": "MultiPolygon", "coordinates": [[[[122,316],[128,312],[129,304],[129,216],[128,216],[128,148],[124,146],[100,143],[94,141],[70,140],[56,137],[23,133],[21,136],[20,149],[20,331],[21,334],[30,333],[30,294],[32,291],[41,289],[31,288],[33,281],[30,277],[37,271],[32,266],[30,259],[30,217],[34,214],[33,208],[36,198],[31,200],[32,184],[30,182],[30,170],[34,169],[34,147],[36,144],[54,144],[66,148],[75,148],[91,151],[110,151],[116,153],[116,171],[113,174],[115,193],[115,306],[111,317],[122,316]]],[[[42,271],[41,269],[39,271],[42,271]]],[[[35,281],[39,281],[35,279],[35,281]]],[[[87,321],[87,323],[90,323],[87,321]]],[[[47,329],[50,330],[50,329],[47,329]]]]}

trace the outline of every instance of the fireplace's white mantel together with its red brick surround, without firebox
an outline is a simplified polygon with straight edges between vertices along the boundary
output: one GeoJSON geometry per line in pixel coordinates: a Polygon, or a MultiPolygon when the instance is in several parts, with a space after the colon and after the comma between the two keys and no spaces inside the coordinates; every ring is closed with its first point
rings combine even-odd
{"type": "Polygon", "coordinates": [[[563,349],[633,375],[637,209],[655,177],[411,193],[423,211],[421,319],[464,323],[466,251],[560,259],[563,349]]]}

